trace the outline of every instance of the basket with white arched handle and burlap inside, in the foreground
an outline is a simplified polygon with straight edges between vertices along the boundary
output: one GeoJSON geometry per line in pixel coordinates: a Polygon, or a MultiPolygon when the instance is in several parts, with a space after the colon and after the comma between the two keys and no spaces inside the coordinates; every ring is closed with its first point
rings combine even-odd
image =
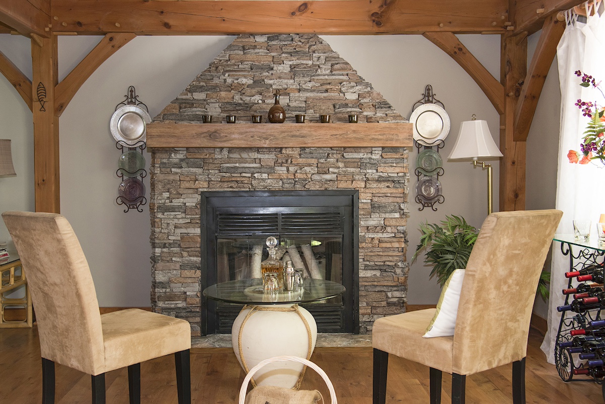
{"type": "Polygon", "coordinates": [[[332,404],[338,404],[336,402],[334,386],[332,385],[328,375],[325,374],[324,370],[310,360],[298,356],[275,356],[269,359],[261,360],[258,365],[250,369],[249,373],[244,378],[244,382],[241,384],[240,388],[240,399],[238,404],[317,404],[319,400],[325,403],[323,397],[317,390],[294,390],[277,386],[257,386],[250,390],[250,393],[246,395],[248,383],[257,370],[262,368],[267,363],[279,362],[283,360],[299,362],[315,370],[319,376],[324,379],[325,384],[328,386],[332,404]]]}

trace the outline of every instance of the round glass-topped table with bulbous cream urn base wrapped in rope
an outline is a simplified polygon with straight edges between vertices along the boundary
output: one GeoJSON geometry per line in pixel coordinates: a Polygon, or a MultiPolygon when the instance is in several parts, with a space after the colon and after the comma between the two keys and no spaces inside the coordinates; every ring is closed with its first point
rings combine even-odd
{"type": "MultiPolygon", "coordinates": [[[[315,348],[317,325],[299,303],[335,298],[344,293],[341,284],[323,279],[304,279],[299,291],[263,293],[261,278],[221,282],[204,289],[206,298],[245,304],[231,329],[231,342],[241,367],[249,370],[261,360],[293,355],[309,359],[315,348]],[[244,327],[245,326],[245,327],[244,327]]],[[[298,362],[274,362],[257,371],[253,385],[299,386],[304,367],[298,362]]]]}

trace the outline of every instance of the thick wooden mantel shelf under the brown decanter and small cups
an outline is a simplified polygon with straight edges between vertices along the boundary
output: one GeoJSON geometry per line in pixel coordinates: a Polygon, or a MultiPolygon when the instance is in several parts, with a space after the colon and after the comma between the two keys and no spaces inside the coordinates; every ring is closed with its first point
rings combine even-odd
{"type": "Polygon", "coordinates": [[[149,148],[412,146],[411,123],[150,123],[149,148]]]}

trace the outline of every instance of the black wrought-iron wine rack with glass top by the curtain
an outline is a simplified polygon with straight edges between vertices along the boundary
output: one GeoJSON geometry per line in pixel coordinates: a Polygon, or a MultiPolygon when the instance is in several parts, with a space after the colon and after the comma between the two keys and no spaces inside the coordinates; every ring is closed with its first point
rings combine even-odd
{"type": "MultiPolygon", "coordinates": [[[[573,239],[573,235],[567,238],[573,239]]],[[[605,256],[605,246],[589,246],[588,243],[569,241],[562,238],[555,239],[561,241],[561,253],[569,256],[569,271],[578,271],[587,266],[602,264],[605,256]]],[[[574,288],[578,283],[575,278],[569,278],[567,288],[574,288]]],[[[571,304],[572,294],[566,295],[565,304],[571,304]]],[[[605,314],[604,314],[605,315],[605,314]]],[[[589,375],[574,374],[574,370],[586,368],[586,361],[579,359],[578,353],[572,353],[567,347],[559,347],[561,342],[567,342],[574,339],[571,336],[572,330],[579,330],[589,326],[590,321],[601,319],[601,308],[576,313],[575,311],[563,311],[557,332],[557,344],[555,344],[555,366],[557,372],[564,382],[596,382],[601,385],[603,397],[605,399],[605,383],[603,377],[592,377],[589,375]]]]}

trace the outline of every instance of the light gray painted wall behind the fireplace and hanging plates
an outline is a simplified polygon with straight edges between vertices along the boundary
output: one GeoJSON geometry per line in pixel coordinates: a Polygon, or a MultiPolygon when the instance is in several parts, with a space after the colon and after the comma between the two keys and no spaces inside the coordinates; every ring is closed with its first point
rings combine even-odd
{"type": "MultiPolygon", "coordinates": [[[[535,38],[537,36],[532,36],[530,41],[535,42],[535,38]]],[[[99,39],[59,37],[60,78],[65,77],[99,39]]],[[[82,243],[101,306],[149,306],[151,289],[148,207],[143,206],[143,213],[123,213],[123,207],[116,204],[120,183],[116,168],[120,152],[109,131],[111,114],[116,104],[122,102],[128,86],[134,85],[140,100],[148,105],[151,116],[155,116],[232,39],[227,36],[137,37],[94,72],[60,117],[61,212],[70,220],[82,243]]],[[[443,220],[445,215],[456,214],[474,226],[480,226],[487,214],[486,172],[473,168],[470,163],[446,161],[460,122],[470,119],[472,114],[488,121],[494,138],[499,133],[499,116],[476,83],[456,62],[422,36],[324,36],[324,39],[403,116],[410,116],[412,105],[422,97],[427,84],[433,85],[436,97],[445,104],[450,116],[450,135],[440,151],[445,168],[445,175],[440,178],[445,203],[437,205],[436,212],[418,210],[419,205],[413,201],[417,181],[411,174],[408,259],[419,240],[419,224],[424,221],[434,223],[443,220]]],[[[460,41],[499,78],[500,36],[465,35],[460,36],[460,41]]],[[[0,51],[31,77],[27,39],[0,35],[0,51]],[[29,67],[24,67],[27,62],[29,67]]],[[[554,100],[558,96],[557,80],[549,77],[544,94],[528,140],[528,155],[532,155],[529,153],[531,147],[536,156],[528,159],[528,193],[532,191],[532,196],[528,195],[528,208],[548,205],[550,194],[554,205],[554,189],[549,189],[550,194],[533,191],[533,187],[538,187],[539,191],[543,184],[550,187],[556,180],[556,167],[553,171],[540,161],[552,159],[556,165],[556,152],[555,157],[550,157],[542,151],[543,143],[558,143],[558,109],[555,108],[557,112],[552,114],[551,108],[557,105],[554,100]],[[543,106],[545,99],[546,108],[543,106]],[[540,126],[540,131],[534,138],[536,126],[540,126]]],[[[18,177],[0,178],[0,210],[33,210],[31,112],[2,76],[0,103],[2,138],[13,139],[13,154],[19,161],[15,164],[18,177]],[[8,191],[13,196],[5,196],[8,191]]],[[[410,158],[411,171],[416,155],[414,149],[410,158]]],[[[145,157],[149,158],[146,152],[145,157]]],[[[495,207],[498,206],[498,175],[496,162],[495,207]]],[[[149,185],[148,178],[144,182],[149,185]]],[[[0,239],[7,238],[7,232],[0,224],[0,239]]],[[[411,266],[409,304],[436,303],[440,289],[434,279],[428,278],[429,272],[430,269],[422,264],[422,258],[411,266]]]]}

